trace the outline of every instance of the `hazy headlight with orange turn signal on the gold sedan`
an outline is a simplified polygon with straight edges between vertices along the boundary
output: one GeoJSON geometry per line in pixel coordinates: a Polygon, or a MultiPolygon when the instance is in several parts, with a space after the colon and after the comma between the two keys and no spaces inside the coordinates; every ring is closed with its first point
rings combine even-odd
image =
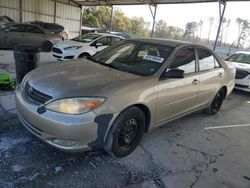
{"type": "Polygon", "coordinates": [[[83,114],[96,109],[105,102],[105,98],[67,98],[45,105],[45,108],[65,114],[83,114]]]}

